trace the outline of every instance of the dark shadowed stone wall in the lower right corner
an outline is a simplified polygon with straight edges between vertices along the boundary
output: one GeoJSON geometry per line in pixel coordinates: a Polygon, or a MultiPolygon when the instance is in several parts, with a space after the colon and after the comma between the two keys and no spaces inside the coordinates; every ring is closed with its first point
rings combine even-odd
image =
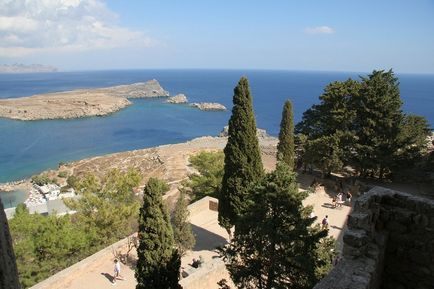
{"type": "Polygon", "coordinates": [[[342,259],[314,289],[434,288],[434,201],[375,187],[359,197],[342,259]]]}

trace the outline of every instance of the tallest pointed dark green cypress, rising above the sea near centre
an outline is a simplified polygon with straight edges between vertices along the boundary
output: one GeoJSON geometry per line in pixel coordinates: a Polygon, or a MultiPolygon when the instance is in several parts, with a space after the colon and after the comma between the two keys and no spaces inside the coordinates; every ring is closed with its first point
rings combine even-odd
{"type": "Polygon", "coordinates": [[[247,78],[242,77],[235,87],[233,103],[219,196],[219,224],[228,231],[246,205],[251,183],[264,173],[247,78]]]}

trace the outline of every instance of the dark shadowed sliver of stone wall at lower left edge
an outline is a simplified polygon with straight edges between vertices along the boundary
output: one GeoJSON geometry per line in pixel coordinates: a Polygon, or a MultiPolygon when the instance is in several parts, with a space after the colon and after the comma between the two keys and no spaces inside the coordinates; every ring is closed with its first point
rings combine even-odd
{"type": "Polygon", "coordinates": [[[17,265],[12,248],[12,239],[9,233],[8,221],[0,199],[0,288],[18,289],[17,265]]]}

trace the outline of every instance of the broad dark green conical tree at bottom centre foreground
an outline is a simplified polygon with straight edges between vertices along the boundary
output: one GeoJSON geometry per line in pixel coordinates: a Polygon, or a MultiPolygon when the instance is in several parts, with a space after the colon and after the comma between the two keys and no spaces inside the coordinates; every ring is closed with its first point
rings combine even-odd
{"type": "Polygon", "coordinates": [[[251,201],[237,220],[235,236],[222,249],[238,288],[312,288],[318,281],[318,244],[327,235],[312,227],[306,192],[280,162],[251,189],[251,201]]]}

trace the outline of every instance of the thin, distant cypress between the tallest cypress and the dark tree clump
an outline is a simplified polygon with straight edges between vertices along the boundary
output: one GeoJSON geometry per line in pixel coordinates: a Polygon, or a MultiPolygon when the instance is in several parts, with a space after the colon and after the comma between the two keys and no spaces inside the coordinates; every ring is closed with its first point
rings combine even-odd
{"type": "Polygon", "coordinates": [[[280,122],[279,143],[277,145],[277,159],[285,162],[294,169],[294,120],[292,104],[287,100],[283,106],[282,120],[280,122]]]}

